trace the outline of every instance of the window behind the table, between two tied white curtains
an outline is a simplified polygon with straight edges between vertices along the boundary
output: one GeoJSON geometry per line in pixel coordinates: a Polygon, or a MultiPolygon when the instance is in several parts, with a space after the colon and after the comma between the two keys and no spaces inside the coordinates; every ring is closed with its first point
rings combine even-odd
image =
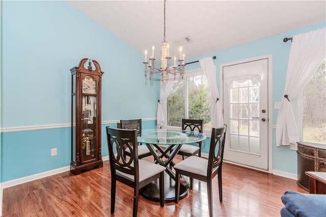
{"type": "Polygon", "coordinates": [[[203,119],[204,130],[210,130],[210,91],[201,69],[176,79],[167,101],[168,126],[180,127],[182,118],[203,119]]]}

